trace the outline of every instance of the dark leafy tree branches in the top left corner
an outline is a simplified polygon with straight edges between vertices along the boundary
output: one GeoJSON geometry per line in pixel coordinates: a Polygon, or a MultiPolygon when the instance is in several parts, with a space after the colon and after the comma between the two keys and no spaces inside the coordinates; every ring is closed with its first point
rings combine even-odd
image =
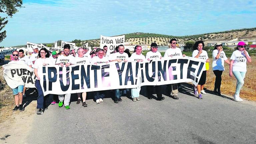
{"type": "MultiPolygon", "coordinates": [[[[18,12],[17,8],[22,7],[22,0],[1,0],[0,1],[0,13],[6,13],[9,17],[18,12]]],[[[1,32],[1,30],[5,27],[8,23],[7,17],[0,17],[0,42],[6,38],[6,30],[1,32]]]]}

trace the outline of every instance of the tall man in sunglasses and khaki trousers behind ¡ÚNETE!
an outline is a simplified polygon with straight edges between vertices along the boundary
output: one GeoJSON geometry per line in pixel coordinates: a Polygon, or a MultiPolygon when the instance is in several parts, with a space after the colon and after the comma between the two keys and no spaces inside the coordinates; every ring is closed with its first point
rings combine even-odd
{"type": "MultiPolygon", "coordinates": [[[[186,56],[185,54],[182,55],[180,48],[176,47],[176,44],[177,44],[176,39],[171,39],[170,44],[171,44],[171,47],[165,51],[164,57],[171,57],[171,59],[178,59],[178,58],[182,58],[182,57],[186,56]]],[[[177,83],[167,85],[167,95],[168,96],[170,96],[171,90],[172,90],[172,98],[176,99],[176,100],[179,99],[177,83]]]]}

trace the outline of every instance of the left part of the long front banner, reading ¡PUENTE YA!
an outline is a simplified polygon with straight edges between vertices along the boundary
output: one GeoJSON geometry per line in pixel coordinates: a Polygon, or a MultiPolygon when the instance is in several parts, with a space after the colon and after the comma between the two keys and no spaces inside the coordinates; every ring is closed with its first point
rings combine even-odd
{"type": "Polygon", "coordinates": [[[103,65],[58,65],[38,71],[44,95],[136,87],[136,64],[110,62],[103,65]]]}

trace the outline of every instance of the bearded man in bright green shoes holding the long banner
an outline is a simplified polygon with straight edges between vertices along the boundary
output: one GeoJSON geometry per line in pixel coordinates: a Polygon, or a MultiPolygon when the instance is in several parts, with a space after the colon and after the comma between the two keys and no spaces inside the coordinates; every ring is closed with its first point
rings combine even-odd
{"type": "MultiPolygon", "coordinates": [[[[58,57],[56,61],[56,65],[60,65],[61,67],[63,66],[69,67],[70,65],[75,64],[75,57],[73,57],[72,55],[69,55],[70,45],[65,44],[63,49],[64,49],[64,54],[58,57]]],[[[64,95],[59,95],[59,100],[60,100],[59,107],[63,106],[63,100],[64,100],[64,107],[66,109],[70,109],[70,106],[69,106],[70,96],[71,94],[65,94],[65,99],[64,99],[64,95]]]]}

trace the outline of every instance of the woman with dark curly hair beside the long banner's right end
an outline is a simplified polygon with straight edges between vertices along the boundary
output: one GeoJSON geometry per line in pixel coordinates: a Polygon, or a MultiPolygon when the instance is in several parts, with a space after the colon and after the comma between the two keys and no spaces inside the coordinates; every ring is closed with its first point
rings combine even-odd
{"type": "MultiPolygon", "coordinates": [[[[203,41],[196,41],[194,44],[194,51],[192,53],[192,57],[195,58],[200,58],[205,60],[205,62],[209,62],[209,57],[208,54],[205,50],[203,50],[204,48],[204,42],[203,41]]],[[[206,92],[204,91],[204,84],[206,82],[206,67],[203,67],[203,73],[201,75],[201,78],[196,86],[196,88],[194,88],[194,94],[198,95],[198,99],[203,99],[201,94],[206,94],[206,92]]]]}

